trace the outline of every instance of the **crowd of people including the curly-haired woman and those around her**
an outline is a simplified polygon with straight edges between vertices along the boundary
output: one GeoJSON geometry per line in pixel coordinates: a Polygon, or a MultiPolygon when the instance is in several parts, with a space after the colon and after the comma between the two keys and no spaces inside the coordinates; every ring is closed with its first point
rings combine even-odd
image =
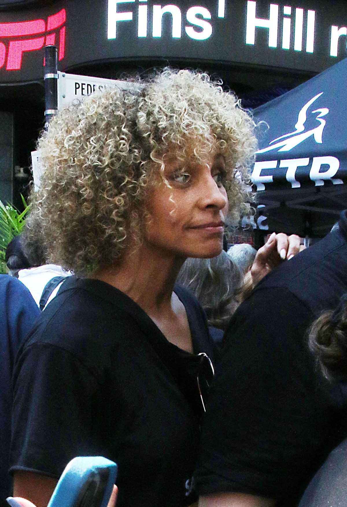
{"type": "Polygon", "coordinates": [[[347,213],[300,253],[284,234],[225,252],[255,128],[219,83],[165,69],[42,134],[19,279],[0,279],[3,499],[12,478],[46,507],[70,459],[100,455],[120,507],[292,507],[343,440],[347,213]]]}

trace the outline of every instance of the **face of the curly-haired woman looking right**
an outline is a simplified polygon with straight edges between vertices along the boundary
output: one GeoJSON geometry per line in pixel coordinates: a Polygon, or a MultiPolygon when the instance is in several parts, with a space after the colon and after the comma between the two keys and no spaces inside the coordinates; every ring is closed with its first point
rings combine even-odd
{"type": "Polygon", "coordinates": [[[170,154],[164,162],[171,188],[163,183],[147,196],[146,243],[184,258],[215,257],[222,249],[227,213],[224,157],[215,151],[201,162],[189,162],[170,154]]]}

